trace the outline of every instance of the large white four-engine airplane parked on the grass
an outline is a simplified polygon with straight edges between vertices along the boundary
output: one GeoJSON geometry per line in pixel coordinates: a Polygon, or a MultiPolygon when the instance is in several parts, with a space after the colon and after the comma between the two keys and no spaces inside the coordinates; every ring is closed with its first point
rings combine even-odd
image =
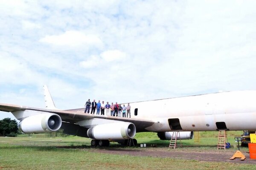
{"type": "Polygon", "coordinates": [[[139,132],[156,132],[160,139],[170,140],[175,131],[180,131],[180,139],[192,139],[193,131],[256,130],[256,91],[130,102],[131,118],[125,118],[88,114],[84,108],[59,110],[47,85],[43,87],[45,109],[0,103],[0,111],[11,112],[20,120],[23,133],[61,128],[66,134],[92,139],[92,146],[109,146],[110,140],[125,144],[139,132]]]}

